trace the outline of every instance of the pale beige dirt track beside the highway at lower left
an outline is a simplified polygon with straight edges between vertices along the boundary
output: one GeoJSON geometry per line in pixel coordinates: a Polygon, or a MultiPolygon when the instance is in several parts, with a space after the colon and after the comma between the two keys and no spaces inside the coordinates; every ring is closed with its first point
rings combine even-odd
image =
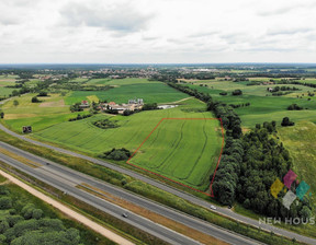
{"type": "Polygon", "coordinates": [[[91,230],[100,233],[101,235],[108,237],[109,240],[112,240],[113,242],[117,244],[123,245],[133,245],[134,243],[129,242],[128,240],[125,240],[124,237],[115,234],[114,232],[103,228],[102,225],[95,223],[92,220],[89,220],[88,218],[83,217],[82,214],[74,211],[72,209],[69,209],[68,207],[61,205],[60,202],[52,199],[50,197],[47,197],[46,195],[42,194],[41,191],[32,188],[31,186],[24,184],[23,182],[19,180],[18,178],[14,178],[13,176],[7,174],[5,172],[0,170],[0,175],[4,176],[5,178],[10,179],[13,184],[20,186],[21,188],[25,189],[27,192],[32,194],[33,196],[44,200],[45,202],[52,205],[53,207],[57,208],[68,217],[77,220],[78,222],[84,224],[86,226],[90,228],[91,230]]]}

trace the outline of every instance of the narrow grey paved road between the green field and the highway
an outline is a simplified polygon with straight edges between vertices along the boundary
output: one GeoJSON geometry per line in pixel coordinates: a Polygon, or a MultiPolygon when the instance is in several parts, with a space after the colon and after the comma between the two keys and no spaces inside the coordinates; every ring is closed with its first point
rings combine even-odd
{"type": "MultiPolygon", "coordinates": [[[[12,132],[11,130],[7,129],[3,125],[0,124],[0,129],[5,131],[7,133],[11,135],[11,136],[14,136],[16,138],[20,138],[22,140],[25,140],[30,143],[34,143],[34,144],[38,144],[38,145],[42,145],[42,147],[45,147],[45,148],[48,148],[48,149],[52,149],[52,150],[55,150],[57,152],[61,152],[61,153],[65,153],[65,154],[68,154],[68,155],[72,155],[72,156],[76,156],[76,158],[81,158],[81,159],[84,159],[87,161],[90,161],[92,163],[95,163],[95,164],[99,164],[99,165],[102,165],[102,166],[105,166],[105,167],[109,167],[111,170],[114,170],[114,171],[117,171],[117,172],[121,172],[123,174],[126,174],[126,175],[129,175],[134,178],[137,178],[137,179],[140,179],[147,184],[150,184],[153,186],[156,186],[160,189],[163,189],[168,192],[171,192],[178,197],[181,197],[188,201],[191,201],[192,203],[195,203],[195,205],[199,205],[199,206],[202,206],[202,207],[205,207],[205,208],[208,208],[210,207],[210,203],[205,200],[202,200],[193,195],[190,195],[190,194],[187,194],[184,191],[181,191],[179,189],[176,189],[176,188],[172,188],[170,186],[167,186],[158,180],[154,180],[149,177],[146,177],[142,174],[138,174],[136,172],[133,172],[131,170],[127,170],[127,168],[124,168],[124,167],[121,167],[121,166],[117,166],[117,165],[113,165],[109,162],[105,162],[105,161],[101,161],[101,160],[98,160],[98,159],[93,159],[93,158],[90,158],[90,156],[87,156],[87,155],[82,155],[82,154],[79,154],[79,153],[76,153],[76,152],[72,152],[72,151],[69,151],[69,150],[65,150],[63,148],[57,148],[57,147],[53,147],[53,145],[49,145],[47,143],[42,143],[42,142],[38,142],[36,140],[32,140],[32,139],[29,139],[24,136],[20,136],[15,132],[12,132]]],[[[274,234],[279,234],[279,235],[283,235],[283,236],[286,236],[289,238],[295,238],[296,241],[300,241],[300,242],[304,242],[304,243],[307,243],[307,244],[315,244],[316,245],[316,240],[315,238],[311,238],[311,237],[307,237],[307,236],[304,236],[304,235],[300,235],[300,234],[296,234],[294,232],[290,232],[290,231],[286,231],[286,230],[283,230],[283,229],[280,229],[280,228],[275,228],[273,225],[269,225],[269,224],[260,224],[258,220],[252,220],[250,218],[247,218],[247,217],[244,217],[241,214],[238,214],[238,213],[235,213],[233,212],[232,210],[229,209],[226,209],[226,208],[222,208],[222,207],[217,207],[217,210],[216,210],[218,213],[223,214],[223,215],[226,215],[226,217],[229,217],[232,219],[235,219],[235,220],[238,220],[240,222],[244,222],[244,223],[247,223],[247,224],[251,224],[251,225],[255,225],[255,226],[258,226],[258,228],[261,228],[262,230],[267,230],[267,231],[272,231],[274,234]]]]}

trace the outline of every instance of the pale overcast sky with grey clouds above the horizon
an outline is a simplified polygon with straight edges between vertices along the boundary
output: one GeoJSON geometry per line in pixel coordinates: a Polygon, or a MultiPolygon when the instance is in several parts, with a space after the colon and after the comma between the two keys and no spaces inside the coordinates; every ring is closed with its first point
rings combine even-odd
{"type": "Polygon", "coordinates": [[[315,0],[1,0],[0,63],[316,62],[315,0]]]}

